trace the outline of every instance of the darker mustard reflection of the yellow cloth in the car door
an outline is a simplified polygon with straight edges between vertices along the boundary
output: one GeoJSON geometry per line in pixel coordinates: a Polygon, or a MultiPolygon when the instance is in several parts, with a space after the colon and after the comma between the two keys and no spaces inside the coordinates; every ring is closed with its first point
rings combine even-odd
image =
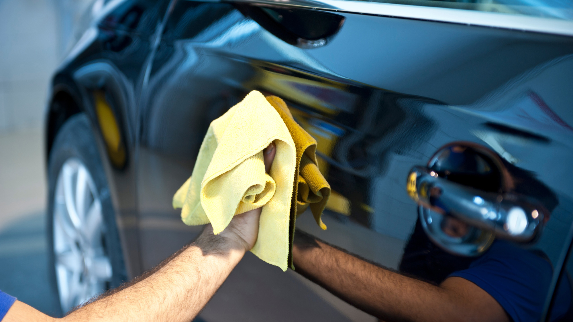
{"type": "MultiPolygon", "coordinates": [[[[295,232],[296,216],[303,213],[310,205],[313,217],[316,223],[326,229],[322,222],[321,216],[324,207],[330,196],[330,185],[324,176],[320,173],[318,163],[316,162],[316,140],[308,134],[307,131],[296,123],[291,111],[289,111],[285,102],[277,96],[267,96],[266,100],[277,110],[278,114],[286,124],[296,147],[296,167],[293,191],[293,202],[291,206],[291,225],[289,234],[292,238],[295,232]]],[[[292,254],[289,254],[289,266],[292,268],[292,254]]]]}

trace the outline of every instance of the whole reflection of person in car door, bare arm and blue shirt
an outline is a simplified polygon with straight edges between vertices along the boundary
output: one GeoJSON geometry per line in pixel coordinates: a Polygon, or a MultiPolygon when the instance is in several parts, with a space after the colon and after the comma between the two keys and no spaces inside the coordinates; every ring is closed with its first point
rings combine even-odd
{"type": "MultiPolygon", "coordinates": [[[[465,223],[450,217],[452,234],[465,223]]],[[[539,321],[553,276],[543,254],[496,240],[478,257],[454,256],[427,237],[411,235],[400,273],[296,231],[295,272],[383,321],[539,321]]],[[[573,321],[571,286],[560,281],[551,321],[573,321]]]]}

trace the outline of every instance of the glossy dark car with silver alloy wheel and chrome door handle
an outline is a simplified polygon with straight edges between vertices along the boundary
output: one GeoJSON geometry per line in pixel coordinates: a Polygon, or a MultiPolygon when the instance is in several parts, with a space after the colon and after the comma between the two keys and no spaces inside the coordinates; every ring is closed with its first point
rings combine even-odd
{"type": "MultiPolygon", "coordinates": [[[[305,213],[297,231],[430,284],[470,280],[509,320],[573,321],[573,2],[113,0],[99,12],[45,114],[62,312],[201,231],[172,197],[210,122],[257,90],[317,140],[332,187],[328,229],[305,213]]],[[[249,253],[199,319],[377,320],[317,282],[249,253]]]]}

